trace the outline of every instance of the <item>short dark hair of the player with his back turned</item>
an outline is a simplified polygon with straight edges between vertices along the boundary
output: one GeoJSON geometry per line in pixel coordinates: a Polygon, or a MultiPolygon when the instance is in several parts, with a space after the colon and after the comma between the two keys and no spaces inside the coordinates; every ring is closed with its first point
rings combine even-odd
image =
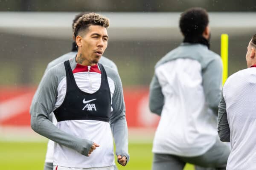
{"type": "Polygon", "coordinates": [[[180,31],[185,37],[200,36],[208,26],[209,18],[203,8],[189,8],[180,15],[180,31]]]}

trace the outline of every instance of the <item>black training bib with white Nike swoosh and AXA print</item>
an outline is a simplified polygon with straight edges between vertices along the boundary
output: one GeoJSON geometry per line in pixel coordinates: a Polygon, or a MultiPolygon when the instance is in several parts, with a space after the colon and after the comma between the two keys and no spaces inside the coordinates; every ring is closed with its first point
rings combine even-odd
{"type": "Polygon", "coordinates": [[[108,77],[101,64],[101,84],[98,91],[88,94],[79,89],[70,67],[69,60],[64,62],[67,76],[66,96],[54,112],[58,122],[64,120],[99,120],[109,122],[111,113],[111,94],[108,77]]]}

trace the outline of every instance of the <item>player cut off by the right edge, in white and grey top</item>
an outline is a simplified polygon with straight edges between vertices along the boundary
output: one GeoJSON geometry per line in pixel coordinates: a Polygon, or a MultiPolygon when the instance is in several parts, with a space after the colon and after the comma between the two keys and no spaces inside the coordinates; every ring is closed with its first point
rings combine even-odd
{"type": "Polygon", "coordinates": [[[218,110],[221,141],[231,143],[227,170],[254,170],[256,162],[256,34],[246,53],[247,69],[225,82],[218,110]]]}

